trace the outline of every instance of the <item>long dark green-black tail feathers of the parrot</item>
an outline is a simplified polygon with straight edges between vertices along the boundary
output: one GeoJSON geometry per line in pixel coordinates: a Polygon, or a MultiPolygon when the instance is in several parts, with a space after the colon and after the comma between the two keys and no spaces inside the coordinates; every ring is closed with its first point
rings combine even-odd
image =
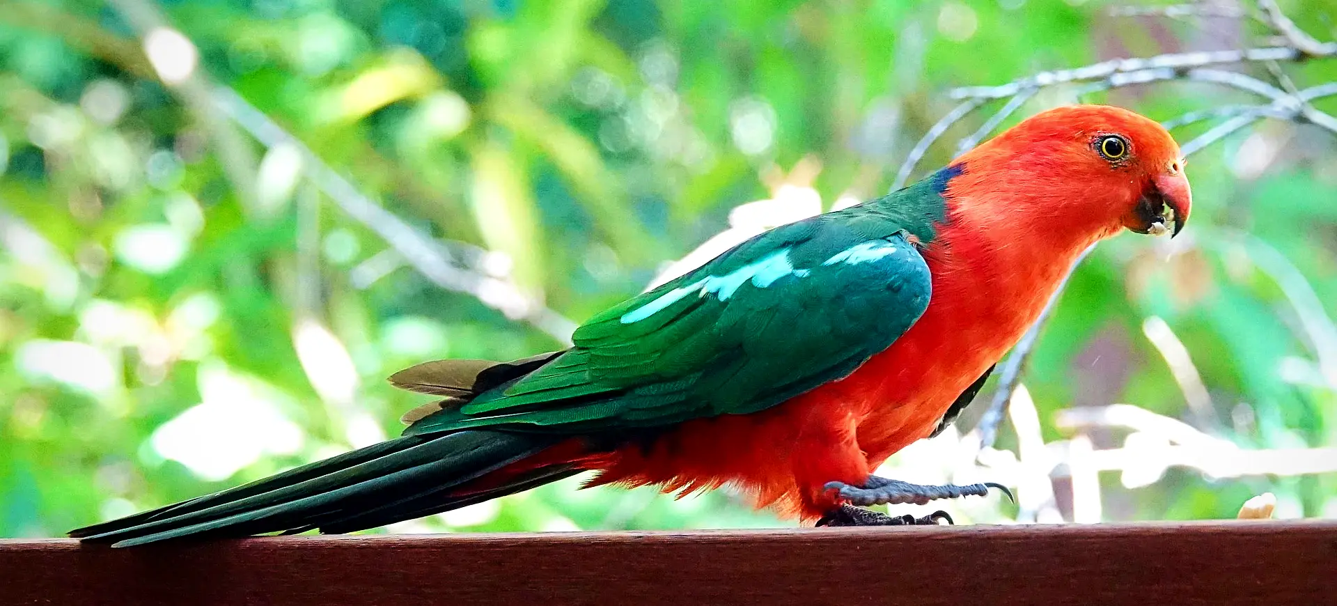
{"type": "Polygon", "coordinates": [[[579,474],[574,463],[540,455],[560,440],[501,431],[409,435],[70,535],[127,547],[180,536],[374,528],[579,474]]]}

